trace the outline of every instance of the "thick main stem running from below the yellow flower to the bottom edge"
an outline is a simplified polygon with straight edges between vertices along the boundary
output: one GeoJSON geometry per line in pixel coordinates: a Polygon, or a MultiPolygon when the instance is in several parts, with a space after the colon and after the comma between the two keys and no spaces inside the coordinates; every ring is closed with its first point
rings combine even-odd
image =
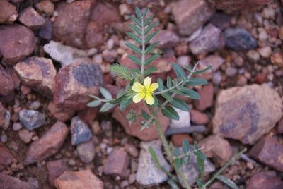
{"type": "Polygon", "coordinates": [[[163,130],[161,128],[161,125],[160,125],[160,122],[158,120],[156,112],[154,111],[152,106],[148,106],[148,107],[149,107],[150,113],[156,118],[156,123],[154,124],[154,126],[156,126],[156,129],[158,131],[159,137],[160,137],[161,142],[163,144],[167,158],[173,164],[173,167],[174,167],[176,173],[178,174],[180,180],[182,181],[183,185],[185,185],[185,188],[190,189],[190,185],[187,183],[183,172],[180,171],[180,169],[178,169],[177,166],[175,165],[175,163],[173,162],[173,154],[171,153],[170,147],[169,147],[168,142],[165,138],[165,135],[164,135],[163,130]]]}

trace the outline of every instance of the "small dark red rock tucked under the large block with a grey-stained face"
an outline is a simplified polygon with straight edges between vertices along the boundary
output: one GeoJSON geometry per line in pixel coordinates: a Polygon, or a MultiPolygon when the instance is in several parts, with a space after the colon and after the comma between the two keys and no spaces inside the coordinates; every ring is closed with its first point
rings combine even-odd
{"type": "Polygon", "coordinates": [[[74,116],[75,111],[72,109],[65,109],[57,107],[53,101],[48,104],[48,110],[51,112],[52,116],[56,118],[57,121],[68,121],[74,116]]]}

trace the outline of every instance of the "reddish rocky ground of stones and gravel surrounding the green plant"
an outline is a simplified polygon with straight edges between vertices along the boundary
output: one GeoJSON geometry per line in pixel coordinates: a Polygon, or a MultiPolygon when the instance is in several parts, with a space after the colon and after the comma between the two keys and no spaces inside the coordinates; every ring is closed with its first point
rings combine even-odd
{"type": "MultiPolygon", "coordinates": [[[[195,87],[200,101],[187,101],[190,114],[161,116],[168,139],[200,142],[206,178],[247,147],[224,176],[239,188],[283,188],[282,4],[0,0],[0,188],[169,188],[149,155],[151,145],[170,170],[153,126],[141,133],[139,121],[127,123],[132,106],[108,114],[86,108],[98,86],[115,96],[127,85],[109,65],[135,66],[125,32],[136,6],[158,22],[155,77],[173,75],[173,62],[212,65],[202,74],[209,85],[195,87]]],[[[183,171],[196,187],[194,157],[183,171]]]]}

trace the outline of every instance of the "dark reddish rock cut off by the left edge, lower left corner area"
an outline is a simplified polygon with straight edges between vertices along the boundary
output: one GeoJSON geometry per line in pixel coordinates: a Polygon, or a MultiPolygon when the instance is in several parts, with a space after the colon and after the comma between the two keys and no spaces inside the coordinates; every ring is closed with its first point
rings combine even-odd
{"type": "MultiPolygon", "coordinates": [[[[0,143],[0,171],[16,161],[16,156],[0,143]]],[[[1,179],[0,179],[1,180],[1,179]]],[[[0,182],[1,186],[1,182],[0,182]]]]}

